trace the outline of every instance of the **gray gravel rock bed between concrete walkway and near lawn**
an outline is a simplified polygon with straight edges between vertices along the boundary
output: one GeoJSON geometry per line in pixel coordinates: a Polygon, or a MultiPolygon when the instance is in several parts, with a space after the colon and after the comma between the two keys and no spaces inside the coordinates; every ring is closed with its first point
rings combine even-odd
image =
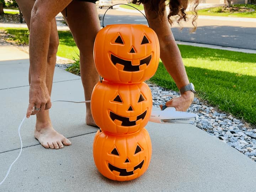
{"type": "MultiPolygon", "coordinates": [[[[57,67],[62,69],[66,69],[69,65],[56,64],[57,67]]],[[[166,101],[173,98],[173,96],[162,95],[180,95],[176,91],[166,90],[151,82],[147,83],[150,87],[153,106],[155,107],[164,105],[166,101]]],[[[194,123],[194,126],[206,131],[256,162],[256,128],[250,127],[247,123],[236,119],[230,114],[219,112],[217,108],[207,106],[206,103],[196,97],[187,112],[198,115],[198,120],[194,123]]]]}

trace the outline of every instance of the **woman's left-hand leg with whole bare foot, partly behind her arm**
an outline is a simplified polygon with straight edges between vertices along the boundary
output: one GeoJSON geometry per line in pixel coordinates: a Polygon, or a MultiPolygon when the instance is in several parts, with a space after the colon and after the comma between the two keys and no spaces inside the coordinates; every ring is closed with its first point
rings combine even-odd
{"type": "MultiPolygon", "coordinates": [[[[31,10],[34,5],[34,0],[17,0],[17,3],[25,17],[28,28],[30,29],[30,19],[31,19],[31,10]]],[[[50,38],[49,38],[49,47],[47,55],[47,65],[46,65],[46,86],[51,95],[52,92],[52,82],[53,82],[53,73],[56,63],[56,53],[58,50],[58,32],[55,18],[51,21],[50,26],[50,38]]],[[[30,72],[29,72],[30,73],[30,72]]],[[[29,82],[31,83],[31,74],[29,74],[29,82]]],[[[70,145],[70,141],[66,139],[63,135],[56,132],[50,121],[49,110],[40,111],[36,114],[36,126],[34,130],[34,136],[45,148],[63,148],[64,145],[70,145]]]]}

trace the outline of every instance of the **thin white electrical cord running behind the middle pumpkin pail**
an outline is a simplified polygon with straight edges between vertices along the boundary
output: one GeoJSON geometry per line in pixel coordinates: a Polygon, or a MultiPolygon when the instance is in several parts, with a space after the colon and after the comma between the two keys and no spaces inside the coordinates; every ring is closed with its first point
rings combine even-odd
{"type": "MultiPolygon", "coordinates": [[[[171,96],[171,97],[178,97],[177,95],[158,95],[158,96],[152,96],[152,97],[164,97],[164,96],[171,96]]],[[[90,103],[91,101],[68,101],[68,100],[54,100],[53,102],[71,102],[71,103],[90,103]]],[[[18,158],[21,155],[22,152],[22,148],[23,148],[23,143],[22,143],[22,139],[21,139],[21,135],[20,135],[20,128],[22,126],[22,123],[25,121],[26,116],[22,119],[20,126],[18,127],[18,135],[20,137],[20,143],[21,143],[21,149],[20,149],[20,153],[18,154],[17,158],[14,160],[14,162],[12,162],[12,164],[9,167],[9,170],[7,171],[7,174],[5,175],[4,179],[1,181],[0,185],[2,185],[2,183],[5,181],[5,179],[7,178],[7,176],[9,175],[10,171],[11,171],[11,167],[12,165],[18,160],[18,158]]]]}

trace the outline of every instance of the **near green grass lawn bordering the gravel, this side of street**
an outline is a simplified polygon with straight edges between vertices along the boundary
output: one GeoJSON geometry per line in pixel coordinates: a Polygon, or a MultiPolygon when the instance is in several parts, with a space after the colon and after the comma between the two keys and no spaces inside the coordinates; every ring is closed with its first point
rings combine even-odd
{"type": "MultiPolygon", "coordinates": [[[[28,43],[27,29],[5,28],[17,36],[15,41],[28,43]],[[23,37],[26,38],[23,38],[23,37]]],[[[59,31],[57,55],[69,59],[78,58],[79,53],[69,31],[59,31]]],[[[256,125],[256,54],[231,52],[179,45],[188,78],[196,87],[197,97],[211,105],[256,125]]],[[[75,73],[79,73],[74,67],[75,73]]],[[[175,82],[160,62],[150,81],[178,91],[175,82]]]]}

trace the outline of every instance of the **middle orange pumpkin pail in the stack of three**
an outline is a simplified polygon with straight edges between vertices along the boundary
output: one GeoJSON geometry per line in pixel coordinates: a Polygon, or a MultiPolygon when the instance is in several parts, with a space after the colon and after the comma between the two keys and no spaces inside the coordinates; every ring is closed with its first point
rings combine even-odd
{"type": "Polygon", "coordinates": [[[98,82],[91,96],[91,112],[102,131],[129,134],[146,126],[152,111],[152,96],[145,83],[98,82]]]}

